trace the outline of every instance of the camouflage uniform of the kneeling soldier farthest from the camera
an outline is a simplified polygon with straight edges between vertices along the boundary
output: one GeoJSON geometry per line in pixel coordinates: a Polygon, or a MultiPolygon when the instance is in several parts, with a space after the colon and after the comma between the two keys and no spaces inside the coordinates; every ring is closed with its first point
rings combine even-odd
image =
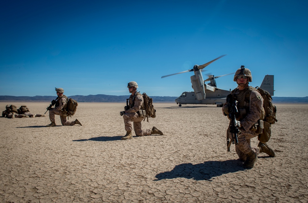
{"type": "Polygon", "coordinates": [[[59,115],[62,125],[75,125],[75,121],[67,121],[66,116],[63,116],[62,109],[67,101],[67,96],[63,95],[57,100],[55,108],[49,110],[49,119],[52,123],[55,123],[55,115],[59,115]]]}

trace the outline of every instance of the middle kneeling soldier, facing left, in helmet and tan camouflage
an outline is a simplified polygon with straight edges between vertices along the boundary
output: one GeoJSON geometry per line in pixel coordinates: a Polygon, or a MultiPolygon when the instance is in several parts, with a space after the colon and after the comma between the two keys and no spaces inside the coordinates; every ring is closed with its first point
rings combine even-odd
{"type": "Polygon", "coordinates": [[[129,82],[128,91],[131,93],[127,106],[124,111],[120,112],[123,116],[124,126],[126,130],[126,135],[121,137],[121,140],[132,139],[132,125],[134,126],[134,131],[136,136],[145,136],[152,134],[163,135],[163,133],[153,126],[152,129],[141,129],[141,121],[145,119],[145,109],[144,109],[144,98],[143,95],[137,92],[138,84],[134,81],[129,82]]]}

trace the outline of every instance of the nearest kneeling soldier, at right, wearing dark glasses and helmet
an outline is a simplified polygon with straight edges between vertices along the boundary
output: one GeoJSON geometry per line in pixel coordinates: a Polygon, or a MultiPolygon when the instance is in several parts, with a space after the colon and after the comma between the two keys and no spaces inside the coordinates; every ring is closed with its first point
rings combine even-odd
{"type": "Polygon", "coordinates": [[[265,118],[264,101],[259,91],[249,86],[249,82],[252,82],[252,75],[245,66],[241,66],[236,71],[233,81],[237,83],[237,88],[231,91],[227,97],[227,102],[222,107],[223,114],[228,116],[230,120],[227,140],[229,140],[228,137],[232,138],[234,133],[231,126],[233,125],[232,118],[229,117],[229,113],[233,111],[234,106],[234,103],[228,102],[228,98],[231,98],[231,100],[237,101],[238,113],[235,117],[237,121],[240,121],[235,151],[240,160],[244,161],[244,167],[252,168],[258,160],[259,153],[266,153],[270,157],[275,157],[274,151],[266,143],[260,141],[257,147],[250,146],[250,139],[257,137],[263,130],[260,123],[263,123],[262,120],[265,118]]]}

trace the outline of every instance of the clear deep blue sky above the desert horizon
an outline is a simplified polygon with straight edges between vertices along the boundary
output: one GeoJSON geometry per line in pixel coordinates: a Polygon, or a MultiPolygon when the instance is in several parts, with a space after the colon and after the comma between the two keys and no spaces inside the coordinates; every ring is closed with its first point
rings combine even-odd
{"type": "MultiPolygon", "coordinates": [[[[24,1],[0,6],[0,95],[150,96],[193,91],[192,69],[215,76],[241,65],[278,97],[308,96],[308,1],[24,1]]],[[[234,89],[233,75],[216,79],[234,89]]]]}

